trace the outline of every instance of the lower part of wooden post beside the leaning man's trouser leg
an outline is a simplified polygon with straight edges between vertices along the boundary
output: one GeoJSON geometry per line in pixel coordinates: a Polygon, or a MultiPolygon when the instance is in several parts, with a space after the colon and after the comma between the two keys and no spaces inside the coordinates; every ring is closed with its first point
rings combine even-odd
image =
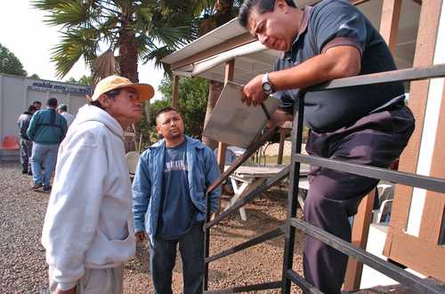
{"type": "MultiPolygon", "coordinates": [[[[359,211],[354,217],[351,242],[353,245],[360,247],[361,249],[366,249],[368,243],[369,225],[372,221],[372,209],[376,193],[377,191],[375,188],[361,200],[359,211]]],[[[354,258],[349,258],[346,275],[344,277],[344,291],[360,289],[362,270],[362,263],[357,262],[354,258]]]]}

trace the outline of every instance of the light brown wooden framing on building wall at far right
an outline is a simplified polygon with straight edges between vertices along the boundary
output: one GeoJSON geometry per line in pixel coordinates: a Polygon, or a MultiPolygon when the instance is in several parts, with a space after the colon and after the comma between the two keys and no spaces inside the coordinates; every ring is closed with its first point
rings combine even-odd
{"type": "MultiPolygon", "coordinates": [[[[441,13],[438,12],[441,12],[441,5],[442,0],[426,1],[422,4],[414,60],[415,67],[433,65],[441,18],[441,13]]],[[[430,81],[411,83],[409,107],[416,117],[417,128],[409,141],[408,147],[401,155],[401,164],[399,165],[401,171],[417,171],[423,136],[422,126],[425,123],[426,100],[429,95],[430,83],[430,81]]],[[[442,101],[444,98],[445,92],[442,94],[442,101]]],[[[444,111],[445,105],[441,103],[441,113],[443,114],[444,111]]],[[[445,121],[443,117],[440,117],[433,149],[434,160],[430,172],[431,176],[442,179],[445,178],[442,164],[445,160],[443,127],[445,127],[445,121]]],[[[422,274],[431,275],[444,281],[445,264],[443,260],[445,260],[445,250],[437,242],[445,201],[443,197],[438,197],[437,193],[426,193],[425,208],[419,236],[417,237],[406,233],[412,195],[412,187],[398,185],[395,189],[392,219],[384,246],[384,255],[422,274]]]]}

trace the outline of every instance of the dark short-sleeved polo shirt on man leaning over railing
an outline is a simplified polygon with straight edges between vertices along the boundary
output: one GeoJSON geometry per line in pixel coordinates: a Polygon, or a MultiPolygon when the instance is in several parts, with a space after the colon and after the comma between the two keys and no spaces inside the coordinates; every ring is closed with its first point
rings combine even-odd
{"type": "MultiPolygon", "coordinates": [[[[356,47],[361,54],[360,75],[396,69],[384,39],[370,21],[344,0],[324,0],[304,10],[303,26],[289,52],[275,69],[294,67],[339,45],[356,47]]],[[[314,131],[335,131],[356,122],[387,101],[403,94],[403,83],[389,83],[307,92],[305,123],[314,131]]],[[[279,91],[281,108],[291,113],[298,89],[279,91]]]]}

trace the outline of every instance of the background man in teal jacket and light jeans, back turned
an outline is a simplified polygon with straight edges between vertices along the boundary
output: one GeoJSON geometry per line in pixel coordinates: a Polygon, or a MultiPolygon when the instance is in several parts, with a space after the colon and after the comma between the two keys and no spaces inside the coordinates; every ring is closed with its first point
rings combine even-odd
{"type": "Polygon", "coordinates": [[[33,189],[44,187],[44,191],[50,191],[50,179],[53,175],[57,160],[59,144],[67,133],[67,121],[56,113],[57,99],[50,98],[46,101],[46,109],[39,110],[32,116],[28,127],[28,138],[33,141],[31,169],[33,189]],[[44,163],[44,175],[41,165],[44,163]]]}

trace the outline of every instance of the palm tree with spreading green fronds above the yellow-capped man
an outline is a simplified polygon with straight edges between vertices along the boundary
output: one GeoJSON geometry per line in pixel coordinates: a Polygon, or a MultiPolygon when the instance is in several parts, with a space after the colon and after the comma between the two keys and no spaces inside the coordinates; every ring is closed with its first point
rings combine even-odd
{"type": "Polygon", "coordinates": [[[83,58],[96,77],[117,72],[138,82],[138,61],[160,60],[198,34],[193,0],[36,0],[33,5],[48,12],[48,24],[61,26],[52,56],[59,77],[83,58]]]}

